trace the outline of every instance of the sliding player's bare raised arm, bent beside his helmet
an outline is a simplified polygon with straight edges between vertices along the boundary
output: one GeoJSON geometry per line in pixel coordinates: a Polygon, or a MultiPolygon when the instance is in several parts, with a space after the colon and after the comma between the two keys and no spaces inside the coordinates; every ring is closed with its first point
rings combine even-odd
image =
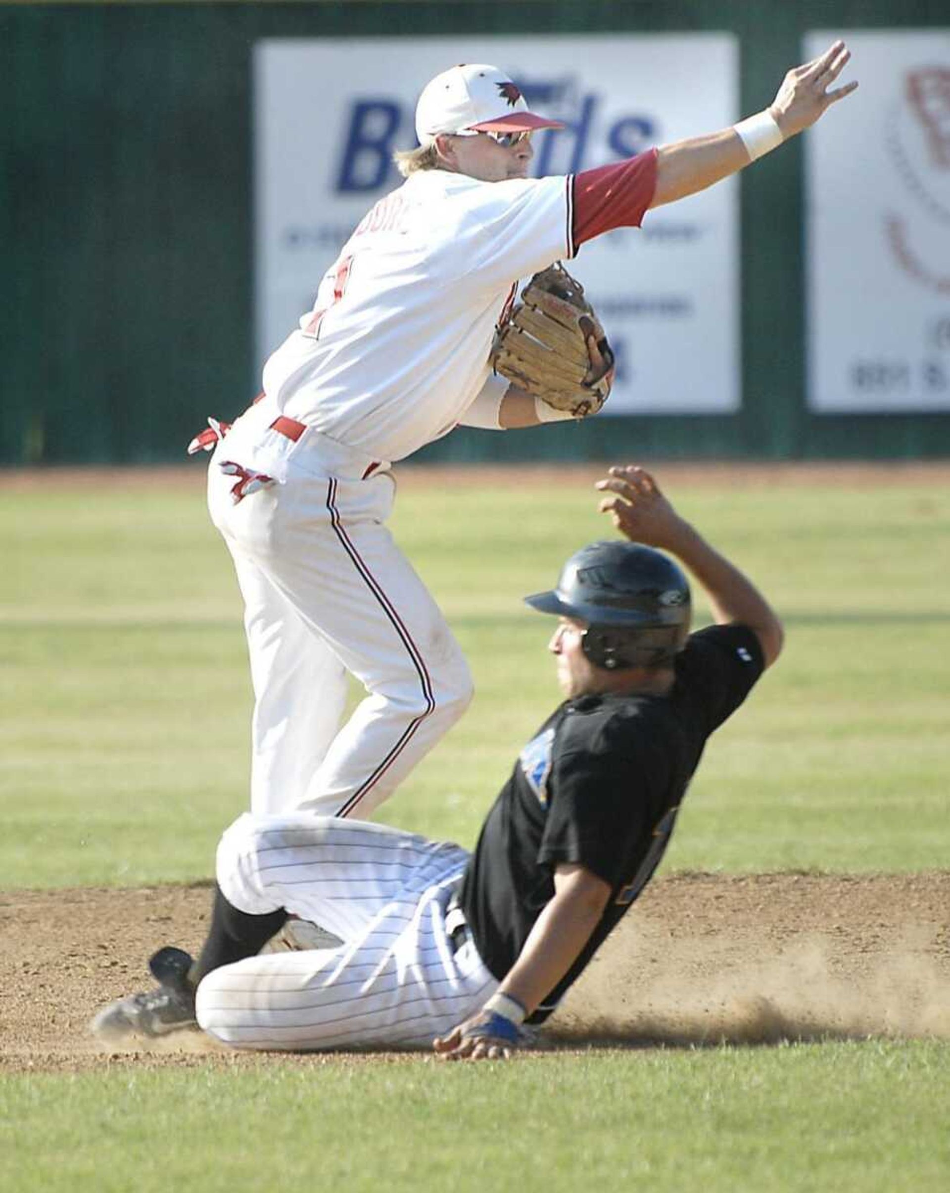
{"type": "Polygon", "coordinates": [[[611,468],[596,488],[609,494],[601,511],[610,514],[617,530],[681,560],[706,589],[716,623],[747,625],[770,667],[782,650],[782,623],[752,581],[679,517],[653,477],[633,465],[611,468]]]}

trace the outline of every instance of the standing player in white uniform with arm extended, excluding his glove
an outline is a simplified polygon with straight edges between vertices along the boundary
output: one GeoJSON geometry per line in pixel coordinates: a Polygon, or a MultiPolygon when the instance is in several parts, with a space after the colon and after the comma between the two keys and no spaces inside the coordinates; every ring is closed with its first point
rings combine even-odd
{"type": "MultiPolygon", "coordinates": [[[[565,416],[491,376],[517,280],[744,168],[855,84],[838,42],[731,129],[577,175],[528,179],[530,112],[491,66],[418,100],[405,183],[367,214],[216,440],[209,506],[234,557],[255,694],[252,810],[367,816],[462,713],[468,668],[393,543],[391,463],[457,425],[565,416]],[[226,435],[225,435],[226,429],[226,435]],[[346,672],[366,698],[340,729],[346,672]]],[[[211,421],[211,420],[210,420],[211,421]]]]}

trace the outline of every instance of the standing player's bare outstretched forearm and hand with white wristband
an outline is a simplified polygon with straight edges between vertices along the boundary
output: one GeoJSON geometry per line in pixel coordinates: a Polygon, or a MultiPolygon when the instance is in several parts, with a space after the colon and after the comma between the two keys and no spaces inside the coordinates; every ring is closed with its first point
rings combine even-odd
{"type": "Polygon", "coordinates": [[[789,70],[764,111],[731,129],[663,146],[650,206],[703,191],[809,128],[857,87],[857,82],[849,82],[830,89],[850,57],[844,42],[834,42],[820,57],[789,70]]]}

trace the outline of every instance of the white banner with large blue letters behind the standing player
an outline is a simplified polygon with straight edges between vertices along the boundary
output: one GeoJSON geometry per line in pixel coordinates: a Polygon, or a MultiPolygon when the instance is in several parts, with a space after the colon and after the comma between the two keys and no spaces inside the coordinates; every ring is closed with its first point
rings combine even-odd
{"type": "MultiPolygon", "coordinates": [[[[732,124],[731,35],[266,39],[254,55],[256,348],[313,301],[365,212],[402,181],[418,92],[455,62],[509,72],[563,119],[533,173],[576,173],[732,124]]],[[[582,247],[570,268],[617,352],[611,413],[739,407],[738,190],[729,180],[582,247]]]]}

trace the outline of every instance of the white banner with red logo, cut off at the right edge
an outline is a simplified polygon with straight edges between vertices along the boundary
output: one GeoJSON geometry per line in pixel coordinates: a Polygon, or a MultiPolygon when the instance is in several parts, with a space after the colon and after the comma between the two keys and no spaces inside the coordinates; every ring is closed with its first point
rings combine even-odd
{"type": "Polygon", "coordinates": [[[844,37],[857,92],[806,134],[808,404],[950,409],[950,29],[844,37]]]}

